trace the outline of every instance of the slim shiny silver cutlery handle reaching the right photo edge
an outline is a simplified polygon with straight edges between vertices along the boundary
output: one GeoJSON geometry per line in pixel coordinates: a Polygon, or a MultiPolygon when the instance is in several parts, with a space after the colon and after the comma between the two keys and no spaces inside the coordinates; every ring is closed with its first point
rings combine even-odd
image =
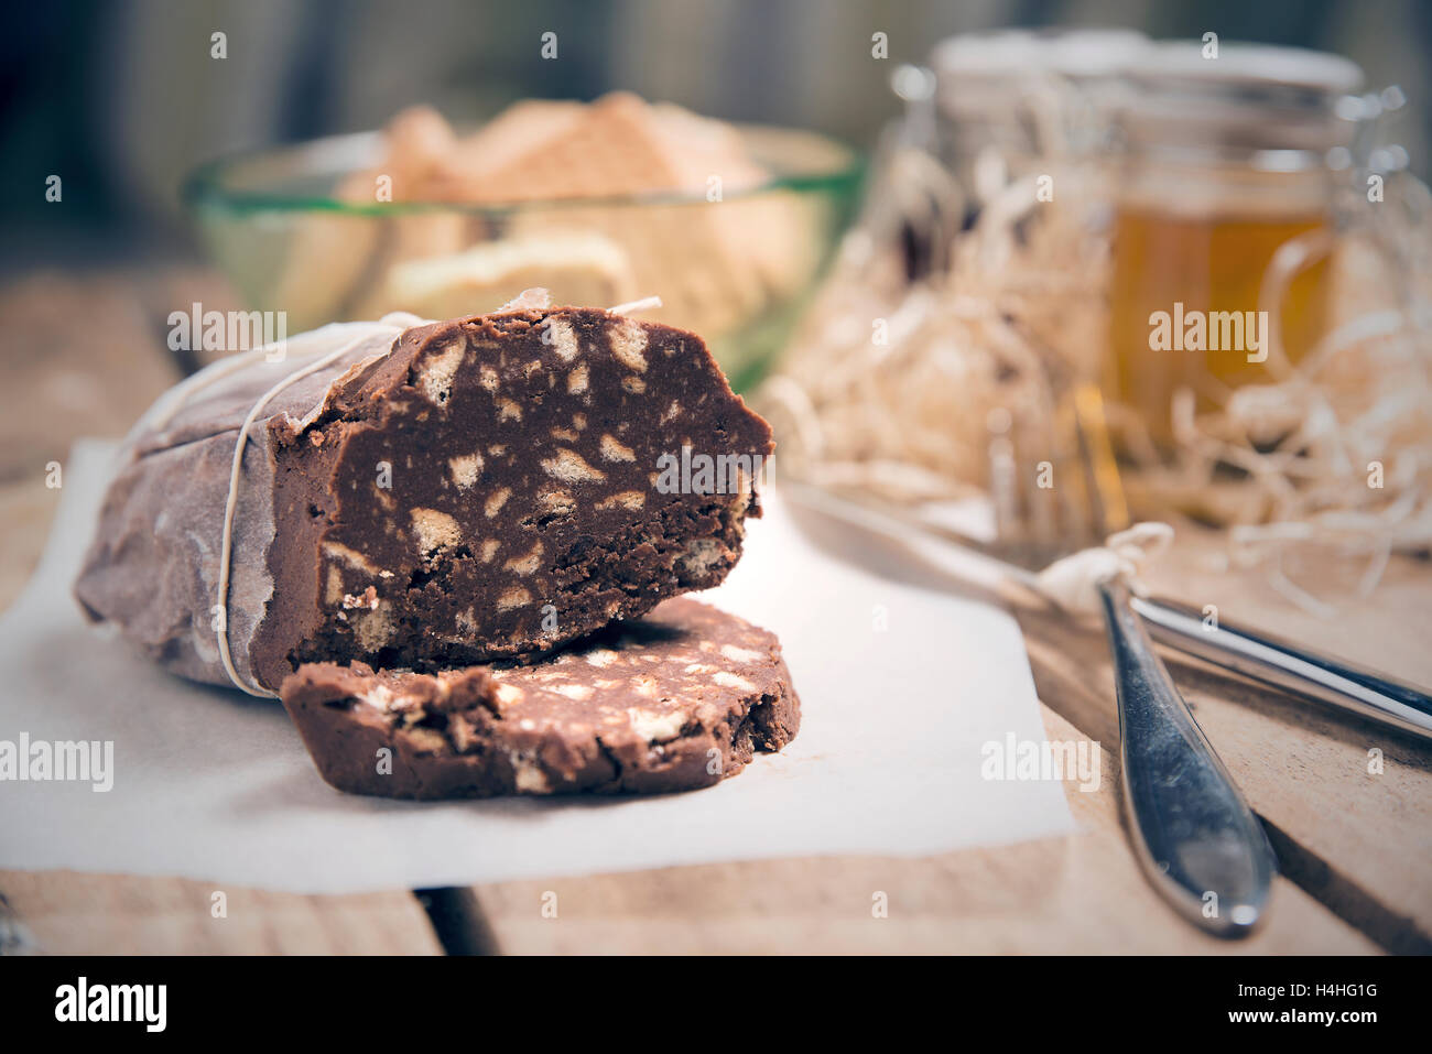
{"type": "Polygon", "coordinates": [[[1415,685],[1247,626],[1223,620],[1207,623],[1201,611],[1173,600],[1134,597],[1130,603],[1160,644],[1432,740],[1432,696],[1415,685]]]}

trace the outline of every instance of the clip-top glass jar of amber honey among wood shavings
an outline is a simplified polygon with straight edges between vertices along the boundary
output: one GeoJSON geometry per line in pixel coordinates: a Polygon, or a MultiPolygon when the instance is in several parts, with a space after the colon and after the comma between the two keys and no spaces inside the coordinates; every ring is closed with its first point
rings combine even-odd
{"type": "Polygon", "coordinates": [[[1214,40],[1153,44],[1124,82],[1103,387],[1169,450],[1179,390],[1211,410],[1326,331],[1336,105],[1362,70],[1214,40]]]}

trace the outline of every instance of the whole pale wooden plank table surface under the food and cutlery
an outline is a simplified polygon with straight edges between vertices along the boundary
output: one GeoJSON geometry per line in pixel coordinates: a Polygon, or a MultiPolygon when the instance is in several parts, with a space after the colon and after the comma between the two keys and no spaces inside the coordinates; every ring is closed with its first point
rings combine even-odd
{"type": "MultiPolygon", "coordinates": [[[[185,268],[56,272],[0,289],[0,607],[33,570],[57,506],[46,463],[63,463],[76,435],[123,432],[179,375],[162,339],[168,312],[196,298],[222,309],[226,295],[185,268]]],[[[1372,597],[1320,620],[1256,574],[1216,570],[1216,537],[1184,531],[1154,587],[1432,685],[1426,561],[1393,560],[1372,597]]],[[[1126,839],[1101,630],[1041,611],[1017,617],[1050,739],[1087,739],[1103,752],[1100,789],[1067,785],[1078,825],[1067,838],[922,859],[712,864],[349,896],[225,886],[223,919],[209,914],[206,882],[0,871],[0,952],[1432,951],[1432,750],[1171,659],[1283,871],[1267,924],[1249,939],[1217,941],[1174,917],[1126,839]],[[1380,770],[1369,763],[1378,750],[1380,770]],[[543,912],[550,892],[556,918],[543,912]],[[872,915],[876,892],[888,898],[885,918],[872,915]]]]}

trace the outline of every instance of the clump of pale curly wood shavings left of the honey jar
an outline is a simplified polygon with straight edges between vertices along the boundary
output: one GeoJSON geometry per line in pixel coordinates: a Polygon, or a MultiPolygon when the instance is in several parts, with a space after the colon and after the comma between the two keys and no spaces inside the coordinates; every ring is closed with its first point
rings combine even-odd
{"type": "MultiPolygon", "coordinates": [[[[1070,165],[1057,179],[1058,205],[1037,200],[1032,178],[1010,183],[948,246],[948,271],[914,284],[899,245],[872,238],[878,219],[846,238],[759,397],[795,471],[901,501],[979,494],[992,410],[1022,450],[1063,447],[1058,392],[1103,342],[1107,246],[1087,232],[1087,175],[1070,165]]],[[[942,212],[964,208],[938,193],[942,212]]]]}

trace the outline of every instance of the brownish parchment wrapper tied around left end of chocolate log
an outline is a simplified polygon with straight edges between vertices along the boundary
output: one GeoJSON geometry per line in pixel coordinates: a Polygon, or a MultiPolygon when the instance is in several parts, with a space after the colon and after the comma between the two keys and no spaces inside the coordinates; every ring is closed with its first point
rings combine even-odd
{"type": "Polygon", "coordinates": [[[89,614],[112,622],[160,666],[193,680],[233,683],[218,643],[219,567],[225,506],[239,427],[265,392],[305,365],[335,354],[269,401],[248,428],[233,514],[225,619],[241,680],[256,685],[251,649],[274,579],[274,435],[271,422],[301,430],[351,371],[388,354],[422,319],[335,322],[288,338],[278,351],[221,359],[165,392],[117,453],[74,594],[89,614]],[[342,354],[337,354],[342,352],[342,354]],[[278,361],[268,361],[268,358],[278,361]]]}

